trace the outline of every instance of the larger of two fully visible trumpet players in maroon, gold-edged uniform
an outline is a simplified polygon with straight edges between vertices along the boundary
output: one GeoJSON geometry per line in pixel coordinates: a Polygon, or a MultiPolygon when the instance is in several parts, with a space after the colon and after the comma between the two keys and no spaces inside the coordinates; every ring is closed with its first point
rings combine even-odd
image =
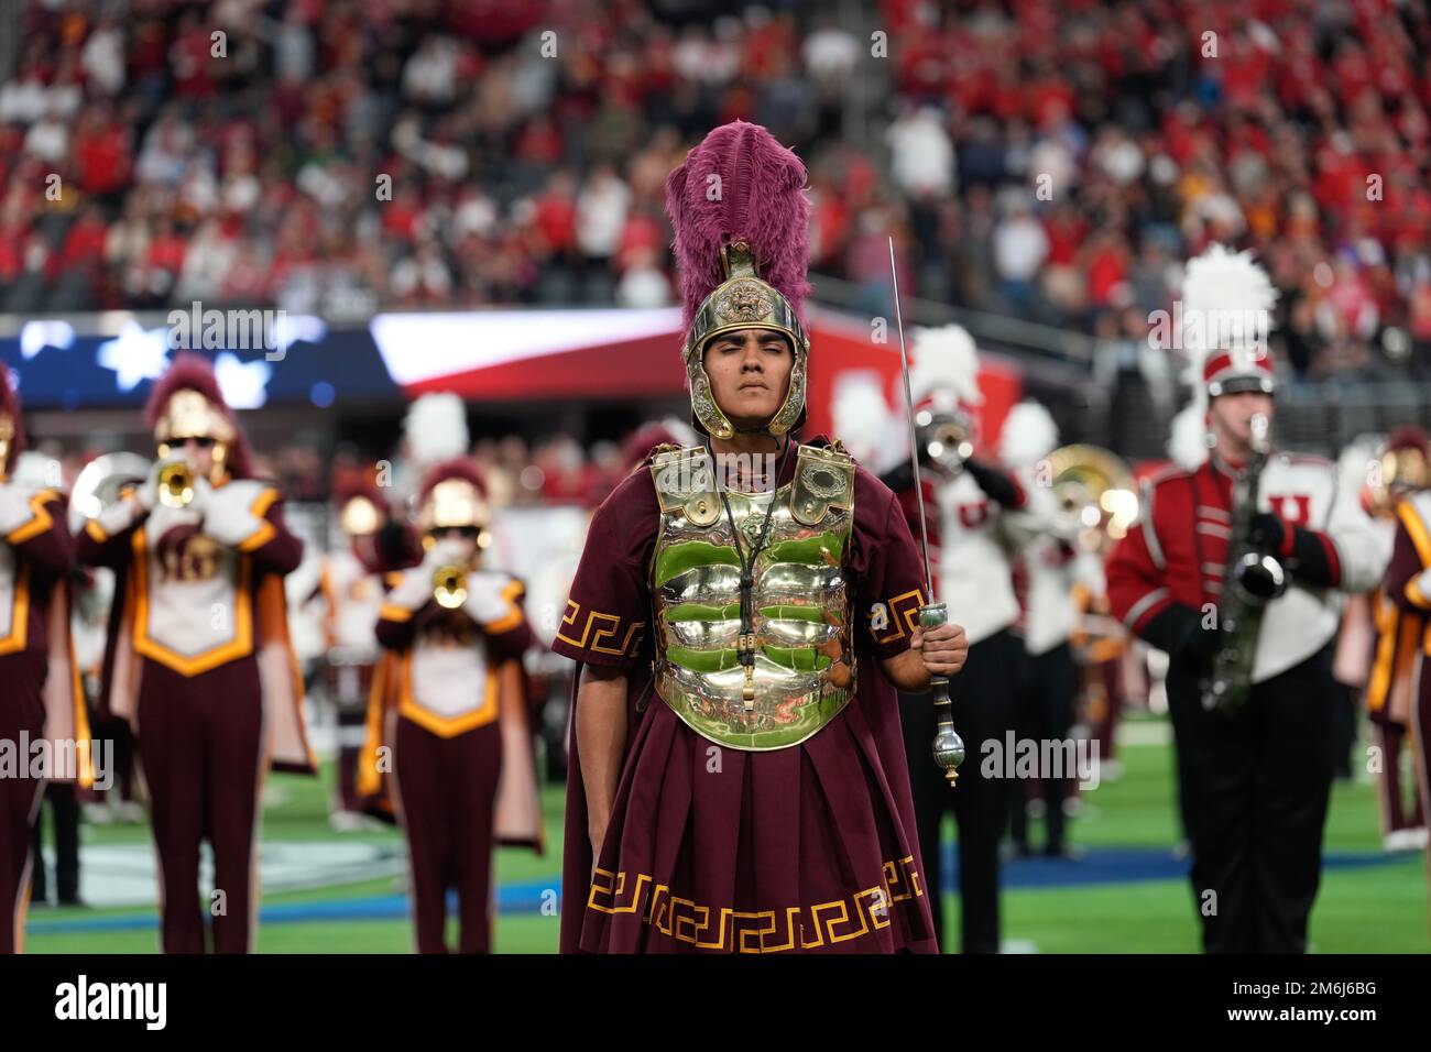
{"type": "Polygon", "coordinates": [[[253,948],[259,792],[312,773],[283,575],[302,542],[252,477],[213,368],[180,352],[145,406],[149,478],[89,520],[79,558],[116,573],[100,707],[130,721],[150,797],[166,953],[205,950],[199,844],[213,847],[212,949],[253,948]]]}

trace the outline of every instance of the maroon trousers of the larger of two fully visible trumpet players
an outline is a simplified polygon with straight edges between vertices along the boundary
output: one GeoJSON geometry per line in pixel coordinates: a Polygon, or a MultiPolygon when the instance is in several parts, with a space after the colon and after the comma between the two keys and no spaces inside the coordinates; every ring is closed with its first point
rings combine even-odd
{"type": "Polygon", "coordinates": [[[252,657],[193,677],[143,658],[139,756],[149,784],[160,869],[165,953],[203,953],[203,913],[213,952],[253,943],[258,872],[253,843],[266,769],[263,700],[252,657]],[[213,847],[213,890],[199,905],[199,843],[213,847]]]}

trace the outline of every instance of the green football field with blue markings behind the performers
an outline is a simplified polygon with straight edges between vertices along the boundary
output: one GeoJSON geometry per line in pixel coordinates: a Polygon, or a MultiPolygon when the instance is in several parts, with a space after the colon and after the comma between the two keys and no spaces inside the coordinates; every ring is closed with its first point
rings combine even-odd
{"type": "MultiPolygon", "coordinates": [[[[1138,741],[1158,739],[1156,721],[1132,724],[1138,741]]],[[[1198,949],[1193,900],[1173,857],[1171,751],[1166,744],[1119,747],[1118,781],[1085,793],[1072,840],[1088,850],[1079,862],[1020,860],[1005,866],[1006,949],[1039,953],[1188,953],[1198,949]]],[[[346,872],[332,883],[263,896],[258,946],[265,953],[405,953],[411,929],[399,867],[399,839],[386,829],[336,833],[322,780],[275,776],[269,781],[263,844],[272,854],[302,849],[325,853],[372,849],[385,860],[381,876],[346,872]]],[[[954,790],[957,792],[957,790],[954,790]]],[[[561,869],[564,789],[545,790],[548,853],[504,849],[498,854],[502,912],[497,949],[552,953],[561,869]]],[[[1037,826],[1035,824],[1035,836],[1037,826]]],[[[947,836],[953,837],[952,826],[947,836]]],[[[147,844],[143,826],[86,826],[86,853],[147,844]]],[[[1427,862],[1421,853],[1381,852],[1377,803],[1369,781],[1337,783],[1327,827],[1327,867],[1312,913],[1311,942],[1319,953],[1422,953],[1431,949],[1427,862]]],[[[946,930],[957,936],[957,903],[944,896],[946,930]]],[[[953,942],[953,940],[952,940],[953,942]]],[[[954,942],[954,945],[957,945],[954,942]]],[[[31,910],[26,952],[152,953],[157,949],[153,907],[31,910]]]]}

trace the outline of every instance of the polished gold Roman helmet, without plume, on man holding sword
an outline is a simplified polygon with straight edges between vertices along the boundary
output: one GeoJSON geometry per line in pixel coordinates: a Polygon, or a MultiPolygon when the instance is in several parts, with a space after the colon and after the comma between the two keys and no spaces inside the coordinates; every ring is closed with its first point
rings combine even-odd
{"type": "Polygon", "coordinates": [[[681,351],[691,381],[691,411],[701,427],[717,438],[730,438],[736,434],[736,428],[711,395],[710,378],[705,375],[705,348],[723,332],[770,329],[786,336],[794,352],[786,401],[767,425],[771,435],[783,435],[798,424],[804,414],[810,336],[806,335],[804,325],[800,323],[790,301],[760,279],[747,242],[737,240],[723,246],[721,269],[726,272],[726,281],[717,285],[695,309],[691,331],[681,351]]]}

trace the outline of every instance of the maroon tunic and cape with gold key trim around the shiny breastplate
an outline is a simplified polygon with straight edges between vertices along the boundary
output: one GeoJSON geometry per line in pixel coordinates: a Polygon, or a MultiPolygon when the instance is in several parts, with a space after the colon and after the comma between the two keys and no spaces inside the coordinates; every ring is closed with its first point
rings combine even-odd
{"type": "MultiPolygon", "coordinates": [[[[794,459],[791,449],[781,484],[794,459]]],[[[766,753],[717,749],[650,688],[650,471],[597,510],[554,644],[578,661],[564,953],[937,952],[937,889],[924,887],[899,703],[879,664],[909,647],[922,562],[890,490],[857,468],[854,494],[846,567],[859,688],[811,739],[766,753]],[[628,670],[625,761],[595,879],[577,753],[587,664],[628,670]]]]}

